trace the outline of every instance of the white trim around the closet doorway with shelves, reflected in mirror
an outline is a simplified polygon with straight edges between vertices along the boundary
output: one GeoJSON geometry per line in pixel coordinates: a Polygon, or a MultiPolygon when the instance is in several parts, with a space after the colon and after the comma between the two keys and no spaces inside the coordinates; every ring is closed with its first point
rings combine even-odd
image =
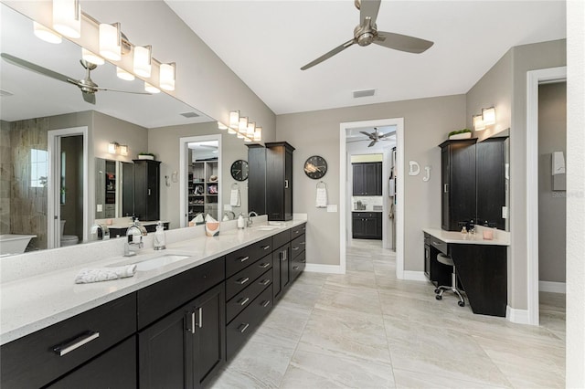
{"type": "MultiPolygon", "coordinates": [[[[183,138],[179,138],[179,226],[185,227],[187,226],[186,223],[186,213],[187,211],[187,197],[186,197],[186,181],[188,178],[187,169],[187,155],[186,155],[186,147],[187,143],[192,142],[208,142],[208,141],[218,141],[218,183],[221,183],[221,134],[213,134],[213,135],[201,135],[201,136],[187,136],[183,138]]],[[[219,195],[218,195],[218,221],[221,221],[221,215],[223,212],[223,206],[221,204],[221,196],[223,195],[223,191],[228,190],[228,188],[219,188],[219,195]]]]}

